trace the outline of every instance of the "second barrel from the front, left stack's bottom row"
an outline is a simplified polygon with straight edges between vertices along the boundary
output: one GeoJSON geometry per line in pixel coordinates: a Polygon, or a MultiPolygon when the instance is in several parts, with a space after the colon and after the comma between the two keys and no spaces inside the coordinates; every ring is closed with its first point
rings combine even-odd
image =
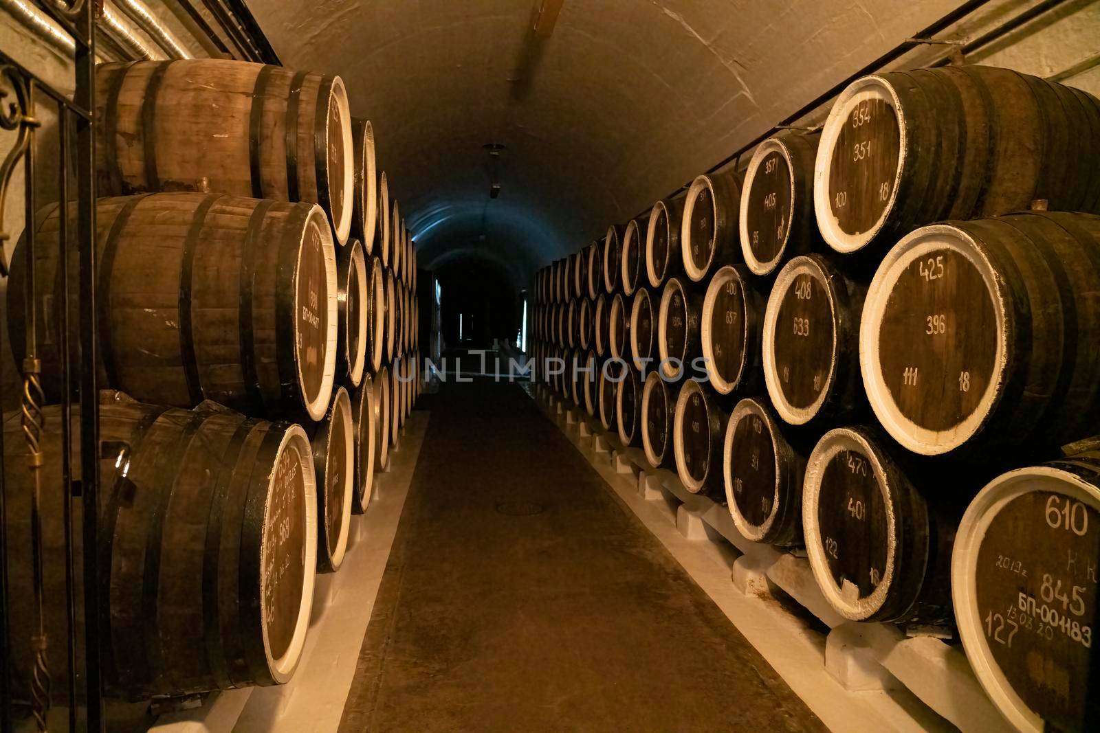
{"type": "Polygon", "coordinates": [[[348,549],[355,495],[355,429],[346,389],[336,388],[329,411],[311,432],[317,477],[317,571],[334,573],[348,549]]]}

